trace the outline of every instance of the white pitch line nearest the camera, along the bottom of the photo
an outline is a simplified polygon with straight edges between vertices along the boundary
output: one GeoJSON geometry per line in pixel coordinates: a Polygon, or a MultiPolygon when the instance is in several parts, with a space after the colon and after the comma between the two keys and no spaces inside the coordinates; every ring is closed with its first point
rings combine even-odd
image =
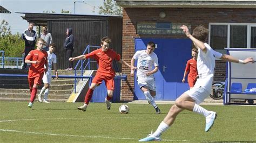
{"type": "MultiPolygon", "coordinates": [[[[103,137],[103,136],[92,136],[92,135],[72,135],[72,134],[56,134],[56,133],[40,133],[40,132],[28,132],[28,131],[17,131],[17,130],[8,130],[0,129],[2,132],[16,132],[16,133],[29,133],[29,134],[44,134],[44,135],[53,135],[53,136],[62,136],[62,137],[83,137],[83,138],[104,138],[104,139],[122,139],[122,140],[139,140],[135,138],[117,138],[117,137],[103,137]]],[[[162,140],[162,141],[187,141],[187,140],[162,140]]]]}

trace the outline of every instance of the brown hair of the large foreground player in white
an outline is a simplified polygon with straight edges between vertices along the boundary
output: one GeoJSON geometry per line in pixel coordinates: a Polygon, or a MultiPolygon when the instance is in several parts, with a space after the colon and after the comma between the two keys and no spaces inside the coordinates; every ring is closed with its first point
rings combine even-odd
{"type": "Polygon", "coordinates": [[[194,28],[192,35],[194,38],[196,38],[202,42],[206,42],[207,35],[208,35],[208,29],[205,28],[204,25],[199,25],[196,28],[194,28]]]}

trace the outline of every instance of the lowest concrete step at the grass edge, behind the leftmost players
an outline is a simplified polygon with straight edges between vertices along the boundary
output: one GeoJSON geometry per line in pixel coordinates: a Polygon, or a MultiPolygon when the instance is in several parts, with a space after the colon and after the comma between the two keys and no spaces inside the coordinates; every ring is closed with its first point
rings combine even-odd
{"type": "MultiPolygon", "coordinates": [[[[38,94],[37,94],[38,95],[38,94]]],[[[68,99],[70,95],[48,95],[49,99],[68,99]]],[[[17,93],[1,93],[1,98],[30,98],[29,94],[17,94],[17,93]]],[[[37,98],[37,96],[36,96],[37,98]]]]}

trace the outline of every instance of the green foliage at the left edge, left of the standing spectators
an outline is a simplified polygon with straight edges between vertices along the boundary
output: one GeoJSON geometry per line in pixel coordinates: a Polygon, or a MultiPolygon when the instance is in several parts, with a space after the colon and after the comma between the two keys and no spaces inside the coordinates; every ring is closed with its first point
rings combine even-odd
{"type": "Polygon", "coordinates": [[[0,50],[4,51],[5,57],[21,57],[24,51],[24,40],[21,34],[11,34],[8,22],[2,20],[0,25],[0,50]]]}

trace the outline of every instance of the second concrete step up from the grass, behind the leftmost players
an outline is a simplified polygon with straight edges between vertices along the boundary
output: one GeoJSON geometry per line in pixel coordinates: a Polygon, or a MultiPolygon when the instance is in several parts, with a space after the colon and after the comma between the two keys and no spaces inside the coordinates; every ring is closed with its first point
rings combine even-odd
{"type": "MultiPolygon", "coordinates": [[[[38,94],[41,91],[41,88],[37,90],[38,94]]],[[[0,93],[20,93],[20,94],[30,94],[29,89],[4,89],[0,88],[0,93]]],[[[50,89],[50,95],[70,95],[72,93],[72,89],[67,90],[52,90],[50,89]]]]}

